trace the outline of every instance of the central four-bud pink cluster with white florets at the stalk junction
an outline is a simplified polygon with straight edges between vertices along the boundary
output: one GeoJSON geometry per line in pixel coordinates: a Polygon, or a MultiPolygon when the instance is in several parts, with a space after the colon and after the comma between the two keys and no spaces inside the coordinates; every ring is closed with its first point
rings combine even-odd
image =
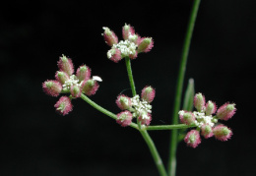
{"type": "Polygon", "coordinates": [[[156,90],[152,87],[142,89],[141,99],[137,94],[134,97],[128,97],[124,94],[117,96],[116,104],[124,110],[117,114],[116,122],[122,127],[129,126],[133,118],[137,118],[141,125],[150,125],[152,120],[152,105],[150,104],[155,98],[156,90]]]}

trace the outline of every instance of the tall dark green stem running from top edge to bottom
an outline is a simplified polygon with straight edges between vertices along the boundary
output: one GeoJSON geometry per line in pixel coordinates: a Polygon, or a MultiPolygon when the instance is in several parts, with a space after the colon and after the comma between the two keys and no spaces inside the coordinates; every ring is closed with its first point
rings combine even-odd
{"type": "MultiPolygon", "coordinates": [[[[192,33],[196,22],[197,12],[201,0],[194,0],[192,11],[190,14],[190,20],[188,22],[188,28],[184,40],[181,62],[178,73],[178,80],[176,85],[176,93],[174,99],[172,124],[178,123],[178,111],[180,110],[181,94],[184,81],[184,75],[186,70],[187,57],[189,53],[189,47],[191,43],[192,33]]],[[[176,172],[176,149],[177,149],[177,130],[173,130],[170,139],[170,151],[169,151],[169,163],[168,163],[168,173],[170,176],[175,176],[176,172]]]]}

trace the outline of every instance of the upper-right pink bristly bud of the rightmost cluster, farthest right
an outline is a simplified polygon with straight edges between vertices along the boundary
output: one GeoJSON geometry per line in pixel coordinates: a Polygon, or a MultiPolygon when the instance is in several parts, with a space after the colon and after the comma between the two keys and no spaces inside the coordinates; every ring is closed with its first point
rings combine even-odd
{"type": "Polygon", "coordinates": [[[236,108],[234,106],[235,106],[234,103],[232,104],[229,104],[229,102],[224,103],[224,105],[222,105],[218,109],[216,116],[221,120],[230,119],[236,111],[236,108]]]}

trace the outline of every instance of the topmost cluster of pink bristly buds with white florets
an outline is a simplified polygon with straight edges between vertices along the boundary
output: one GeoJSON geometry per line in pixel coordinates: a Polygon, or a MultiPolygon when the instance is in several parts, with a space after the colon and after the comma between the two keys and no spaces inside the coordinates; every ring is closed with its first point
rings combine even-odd
{"type": "Polygon", "coordinates": [[[141,52],[149,52],[153,46],[154,41],[152,37],[141,37],[130,25],[126,25],[122,29],[122,35],[124,40],[118,41],[116,34],[103,27],[102,33],[106,44],[111,46],[111,49],[107,51],[107,58],[117,63],[122,58],[129,57],[135,59],[141,52]]]}

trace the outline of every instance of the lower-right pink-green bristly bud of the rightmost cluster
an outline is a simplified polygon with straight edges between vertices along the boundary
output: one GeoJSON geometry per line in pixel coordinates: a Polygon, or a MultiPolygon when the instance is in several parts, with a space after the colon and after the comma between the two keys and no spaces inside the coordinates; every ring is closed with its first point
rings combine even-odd
{"type": "Polygon", "coordinates": [[[222,124],[216,126],[213,130],[213,133],[217,140],[220,140],[223,142],[229,140],[232,136],[232,131],[222,124]]]}

